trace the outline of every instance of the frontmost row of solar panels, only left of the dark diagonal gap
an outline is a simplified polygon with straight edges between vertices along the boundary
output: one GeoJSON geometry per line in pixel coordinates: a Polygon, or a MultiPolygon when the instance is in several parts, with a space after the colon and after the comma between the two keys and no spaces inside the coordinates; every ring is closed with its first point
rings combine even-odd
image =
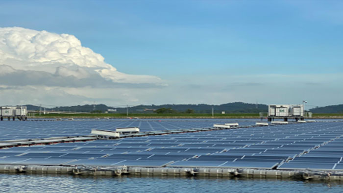
{"type": "Polygon", "coordinates": [[[229,167],[233,165],[270,168],[285,160],[285,156],[242,156],[186,154],[106,154],[106,153],[34,153],[2,152],[0,164],[92,165],[92,166],[203,166],[229,167]],[[263,160],[263,163],[257,162],[263,160]]]}

